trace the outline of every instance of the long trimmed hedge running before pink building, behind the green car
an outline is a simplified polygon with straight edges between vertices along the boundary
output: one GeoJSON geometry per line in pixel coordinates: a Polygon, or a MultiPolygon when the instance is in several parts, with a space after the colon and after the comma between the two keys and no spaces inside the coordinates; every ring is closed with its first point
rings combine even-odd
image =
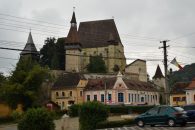
{"type": "Polygon", "coordinates": [[[154,106],[109,106],[110,113],[112,114],[141,114],[154,106]]]}

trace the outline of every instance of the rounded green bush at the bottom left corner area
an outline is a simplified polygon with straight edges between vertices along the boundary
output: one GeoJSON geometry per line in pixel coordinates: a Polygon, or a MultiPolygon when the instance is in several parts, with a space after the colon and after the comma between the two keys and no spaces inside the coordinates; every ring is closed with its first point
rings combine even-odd
{"type": "Polygon", "coordinates": [[[18,123],[18,130],[54,130],[51,114],[43,108],[29,109],[18,123]]]}

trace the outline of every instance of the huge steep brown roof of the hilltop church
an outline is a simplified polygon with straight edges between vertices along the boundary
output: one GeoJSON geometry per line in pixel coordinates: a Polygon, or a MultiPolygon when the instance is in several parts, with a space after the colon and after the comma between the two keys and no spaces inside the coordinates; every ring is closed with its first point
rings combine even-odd
{"type": "Polygon", "coordinates": [[[78,34],[82,48],[108,46],[110,38],[121,43],[114,19],[81,22],[78,34]]]}

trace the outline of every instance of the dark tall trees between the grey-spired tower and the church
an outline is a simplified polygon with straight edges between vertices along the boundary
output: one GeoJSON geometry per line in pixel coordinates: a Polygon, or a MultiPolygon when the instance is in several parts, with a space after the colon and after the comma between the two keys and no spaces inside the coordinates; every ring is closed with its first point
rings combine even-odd
{"type": "Polygon", "coordinates": [[[64,70],[65,66],[65,50],[64,40],[55,38],[47,38],[45,45],[40,50],[41,66],[48,66],[50,69],[64,70]]]}

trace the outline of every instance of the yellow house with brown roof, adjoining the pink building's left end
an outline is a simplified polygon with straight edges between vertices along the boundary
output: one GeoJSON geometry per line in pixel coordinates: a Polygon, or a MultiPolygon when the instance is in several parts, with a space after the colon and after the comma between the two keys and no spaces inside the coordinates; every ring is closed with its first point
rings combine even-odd
{"type": "Polygon", "coordinates": [[[87,80],[79,73],[64,73],[58,77],[51,89],[51,100],[61,109],[72,104],[83,103],[83,89],[87,80]]]}

